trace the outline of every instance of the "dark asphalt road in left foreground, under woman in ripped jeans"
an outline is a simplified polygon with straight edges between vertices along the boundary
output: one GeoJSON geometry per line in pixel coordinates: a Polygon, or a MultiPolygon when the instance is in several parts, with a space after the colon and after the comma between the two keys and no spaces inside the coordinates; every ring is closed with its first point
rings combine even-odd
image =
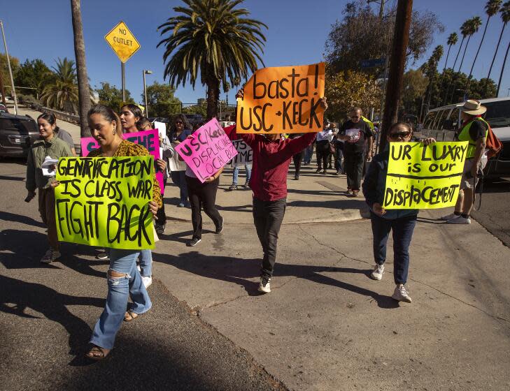
{"type": "Polygon", "coordinates": [[[111,355],[83,358],[108,264],[73,244],[62,262],[39,263],[45,228],[22,201],[20,163],[0,163],[0,390],[286,390],[159,281],[153,309],[122,325],[111,355]]]}

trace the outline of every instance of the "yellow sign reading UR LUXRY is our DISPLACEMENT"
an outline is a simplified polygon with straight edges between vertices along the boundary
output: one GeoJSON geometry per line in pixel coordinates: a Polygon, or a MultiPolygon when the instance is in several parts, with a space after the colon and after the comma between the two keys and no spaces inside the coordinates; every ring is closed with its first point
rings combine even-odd
{"type": "Polygon", "coordinates": [[[438,209],[457,201],[467,142],[390,142],[385,209],[438,209]]]}

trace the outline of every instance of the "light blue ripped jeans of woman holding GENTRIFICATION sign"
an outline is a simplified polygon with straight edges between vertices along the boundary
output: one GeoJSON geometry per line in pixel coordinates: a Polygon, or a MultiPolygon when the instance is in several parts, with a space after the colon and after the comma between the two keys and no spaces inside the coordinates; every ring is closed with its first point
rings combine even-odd
{"type": "Polygon", "coordinates": [[[122,325],[127,310],[128,295],[133,301],[131,309],[141,314],[152,307],[146,287],[136,269],[136,258],[140,251],[110,249],[110,270],[126,274],[112,277],[108,274],[108,296],[101,317],[94,326],[90,343],[101,348],[111,349],[115,335],[122,325]]]}

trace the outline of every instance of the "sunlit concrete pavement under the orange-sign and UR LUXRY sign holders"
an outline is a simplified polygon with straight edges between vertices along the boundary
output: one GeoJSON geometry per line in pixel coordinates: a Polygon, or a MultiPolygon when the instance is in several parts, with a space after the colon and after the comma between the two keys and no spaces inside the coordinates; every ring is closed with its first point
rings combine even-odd
{"type": "MultiPolygon", "coordinates": [[[[190,248],[191,223],[169,221],[153,254],[155,278],[292,390],[508,390],[510,249],[476,222],[447,226],[438,218],[449,211],[421,212],[413,303],[399,305],[390,298],[391,239],[387,272],[373,281],[364,201],[342,193],[345,177],[313,168],[288,181],[269,295],[257,293],[262,249],[251,192],[223,192],[228,173],[218,190],[224,233],[205,232],[190,248]]],[[[167,186],[170,202],[176,195],[167,186]]],[[[167,205],[167,214],[189,219],[190,210],[167,205]]]]}

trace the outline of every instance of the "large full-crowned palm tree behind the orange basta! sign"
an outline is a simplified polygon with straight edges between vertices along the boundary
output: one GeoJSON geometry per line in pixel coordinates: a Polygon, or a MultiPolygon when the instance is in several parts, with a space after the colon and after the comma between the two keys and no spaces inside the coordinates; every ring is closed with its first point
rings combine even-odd
{"type": "Polygon", "coordinates": [[[246,80],[257,69],[257,60],[264,64],[259,51],[266,38],[260,30],[267,26],[248,18],[246,8],[235,8],[243,1],[183,0],[186,6],[173,8],[178,15],[158,27],[162,36],[169,33],[157,44],[166,47],[164,78],[169,76],[173,86],[184,86],[189,78],[194,87],[200,72],[207,87],[208,118],[218,114],[220,87],[225,91],[227,82],[246,80]]]}

